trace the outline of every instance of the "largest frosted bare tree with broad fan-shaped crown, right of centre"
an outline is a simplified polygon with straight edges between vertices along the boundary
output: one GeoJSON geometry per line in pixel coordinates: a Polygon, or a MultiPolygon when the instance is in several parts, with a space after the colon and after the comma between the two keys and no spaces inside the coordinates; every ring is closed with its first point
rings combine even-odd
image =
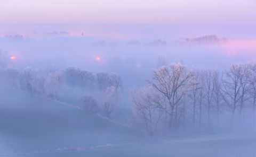
{"type": "MultiPolygon", "coordinates": [[[[160,92],[169,104],[169,127],[174,127],[175,107],[192,84],[193,72],[181,64],[161,67],[154,71],[153,80],[149,83],[160,92]]],[[[177,113],[177,112],[176,112],[177,113]]]]}

